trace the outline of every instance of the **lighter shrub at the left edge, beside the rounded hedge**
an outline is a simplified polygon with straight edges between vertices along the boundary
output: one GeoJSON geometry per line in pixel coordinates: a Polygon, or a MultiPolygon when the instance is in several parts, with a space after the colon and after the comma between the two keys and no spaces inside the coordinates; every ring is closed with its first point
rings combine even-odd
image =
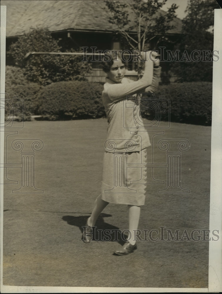
{"type": "MultiPolygon", "coordinates": [[[[24,71],[16,66],[6,66],[5,76],[5,92],[6,99],[13,99],[18,96],[20,100],[24,101],[24,112],[20,112],[18,120],[24,117],[24,120],[30,120],[30,115],[36,114],[36,94],[39,92],[40,85],[29,82],[24,76],[24,71]]],[[[6,116],[9,114],[9,109],[6,109],[6,116]]],[[[21,109],[20,109],[21,110],[21,109]]]]}

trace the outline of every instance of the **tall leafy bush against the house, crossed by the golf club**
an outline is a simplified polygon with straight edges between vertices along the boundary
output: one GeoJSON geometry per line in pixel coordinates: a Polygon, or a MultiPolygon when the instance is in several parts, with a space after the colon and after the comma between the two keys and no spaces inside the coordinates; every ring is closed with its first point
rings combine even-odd
{"type": "MultiPolygon", "coordinates": [[[[80,56],[67,55],[32,55],[27,60],[24,56],[33,51],[61,52],[59,40],[52,38],[47,29],[33,29],[11,44],[7,52],[17,66],[24,69],[29,81],[47,85],[57,81],[86,80],[90,71],[89,64],[81,62],[80,56]]],[[[74,50],[69,50],[74,52],[74,50]]]]}

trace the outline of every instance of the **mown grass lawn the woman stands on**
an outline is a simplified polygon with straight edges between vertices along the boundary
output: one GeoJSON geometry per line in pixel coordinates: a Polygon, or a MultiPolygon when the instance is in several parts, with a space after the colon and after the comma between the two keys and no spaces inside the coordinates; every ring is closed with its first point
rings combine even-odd
{"type": "MultiPolygon", "coordinates": [[[[20,151],[11,148],[14,139],[44,142],[35,153],[35,186],[44,193],[16,194],[12,189],[19,184],[5,185],[3,284],[207,288],[207,241],[138,241],[138,249],[127,256],[113,255],[121,246],[113,240],[81,241],[81,226],[100,193],[106,128],[106,119],[33,121],[17,129],[18,135],[7,137],[10,163],[20,162],[20,151]]],[[[207,230],[211,127],[171,123],[153,138],[156,163],[166,163],[166,151],[156,147],[160,139],[190,142],[188,151],[181,153],[181,186],[190,193],[158,193],[163,184],[148,185],[139,229],[156,229],[159,238],[160,226],[180,230],[180,235],[185,229],[188,234],[207,230]]],[[[152,148],[147,152],[151,160],[152,148]]],[[[9,168],[7,176],[20,181],[20,168],[9,168]]],[[[153,176],[166,181],[166,169],[155,168],[153,176]]],[[[110,203],[96,225],[127,229],[127,206],[110,203]]]]}

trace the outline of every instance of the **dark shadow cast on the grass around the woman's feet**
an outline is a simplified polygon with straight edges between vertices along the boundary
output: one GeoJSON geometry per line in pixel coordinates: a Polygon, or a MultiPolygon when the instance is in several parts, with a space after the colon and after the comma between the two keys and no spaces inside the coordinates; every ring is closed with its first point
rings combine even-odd
{"type": "MultiPolygon", "coordinates": [[[[104,218],[108,218],[110,216],[111,214],[100,214],[95,224],[96,228],[94,231],[95,235],[93,240],[118,242],[120,245],[123,245],[126,242],[126,234],[123,235],[118,227],[104,222],[104,218]],[[103,234],[104,230],[109,230],[109,232],[107,233],[108,235],[105,236],[103,234]]],[[[63,216],[62,220],[66,221],[69,225],[74,225],[78,227],[81,233],[83,233],[82,227],[86,225],[87,218],[89,218],[89,216],[63,216]]]]}

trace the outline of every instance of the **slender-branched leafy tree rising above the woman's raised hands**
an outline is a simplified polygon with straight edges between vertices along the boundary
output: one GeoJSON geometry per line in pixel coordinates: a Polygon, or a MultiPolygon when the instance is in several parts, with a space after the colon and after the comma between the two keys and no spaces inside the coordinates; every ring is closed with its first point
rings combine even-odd
{"type": "MultiPolygon", "coordinates": [[[[125,38],[130,49],[144,50],[145,44],[156,38],[156,48],[167,31],[173,29],[171,21],[176,17],[176,4],[172,4],[167,12],[160,8],[167,0],[131,0],[131,1],[105,1],[112,17],[111,24],[117,26],[118,33],[125,38]],[[137,31],[136,36],[131,32],[137,31]]],[[[152,48],[154,49],[154,48],[152,48]]]]}

